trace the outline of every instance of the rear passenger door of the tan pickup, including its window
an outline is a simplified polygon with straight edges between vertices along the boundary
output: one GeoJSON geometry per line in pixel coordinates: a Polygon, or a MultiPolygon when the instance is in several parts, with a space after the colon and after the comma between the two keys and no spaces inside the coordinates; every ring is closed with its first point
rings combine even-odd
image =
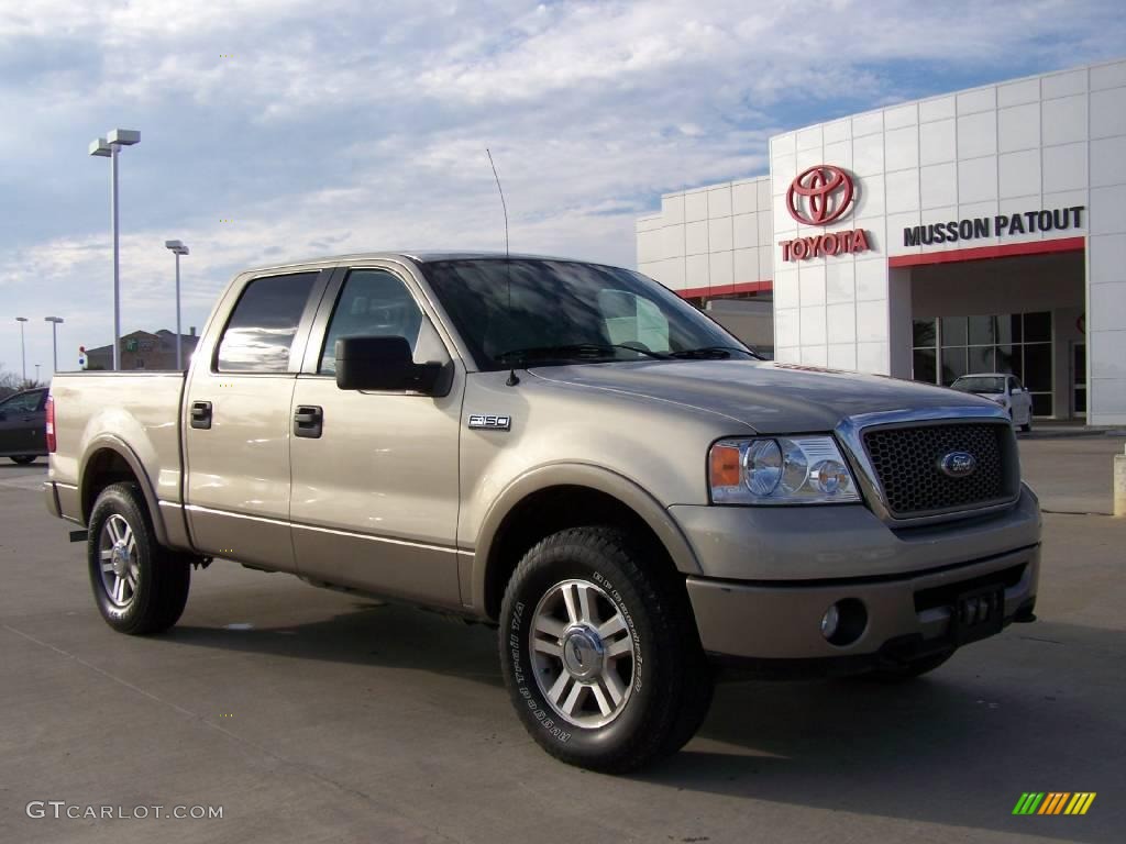
{"type": "Polygon", "coordinates": [[[294,571],[289,407],[331,270],[253,276],[231,287],[196,351],[184,403],[185,504],[199,550],[294,571]]]}

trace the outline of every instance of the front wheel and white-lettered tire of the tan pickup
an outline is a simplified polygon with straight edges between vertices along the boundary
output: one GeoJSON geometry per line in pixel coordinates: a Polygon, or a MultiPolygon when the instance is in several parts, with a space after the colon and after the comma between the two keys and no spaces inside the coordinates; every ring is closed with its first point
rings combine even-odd
{"type": "Polygon", "coordinates": [[[574,528],[536,545],[508,584],[500,656],[531,737],[563,762],[623,773],[680,749],[712,675],[677,577],[624,531],[574,528]]]}

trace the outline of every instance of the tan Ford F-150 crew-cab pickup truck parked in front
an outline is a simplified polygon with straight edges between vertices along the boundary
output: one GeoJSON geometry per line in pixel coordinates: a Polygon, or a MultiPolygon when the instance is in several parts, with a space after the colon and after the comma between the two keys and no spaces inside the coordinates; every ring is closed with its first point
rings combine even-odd
{"type": "Polygon", "coordinates": [[[57,375],[47,440],[114,629],[215,557],[482,621],[530,735],[601,771],[679,749],[729,666],[904,680],[1035,618],[1003,408],[761,360],[604,264],[243,272],[187,374],[57,375]]]}

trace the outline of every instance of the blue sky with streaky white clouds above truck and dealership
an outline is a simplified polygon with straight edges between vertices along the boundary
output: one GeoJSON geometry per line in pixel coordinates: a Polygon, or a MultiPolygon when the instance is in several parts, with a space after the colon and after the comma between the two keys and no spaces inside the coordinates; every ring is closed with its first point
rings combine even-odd
{"type": "Polygon", "coordinates": [[[241,269],[504,246],[633,267],[662,192],[767,172],[768,138],[1126,56],[1120,0],[0,0],[0,363],[202,329],[241,269]]]}

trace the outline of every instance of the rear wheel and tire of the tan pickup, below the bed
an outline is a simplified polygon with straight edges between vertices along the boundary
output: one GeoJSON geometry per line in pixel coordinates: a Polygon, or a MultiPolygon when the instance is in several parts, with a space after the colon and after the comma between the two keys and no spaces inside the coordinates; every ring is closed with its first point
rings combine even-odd
{"type": "Polygon", "coordinates": [[[98,496],[87,559],[98,611],[118,632],[163,632],[179,620],[191,568],[186,557],[157,542],[136,484],[114,484],[98,496]]]}

